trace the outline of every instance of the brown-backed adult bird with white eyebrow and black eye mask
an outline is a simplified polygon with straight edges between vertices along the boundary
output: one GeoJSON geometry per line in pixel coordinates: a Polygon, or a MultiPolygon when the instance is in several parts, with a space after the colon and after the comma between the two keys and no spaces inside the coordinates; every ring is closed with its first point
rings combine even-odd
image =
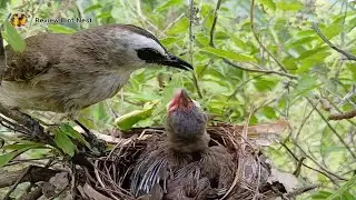
{"type": "Polygon", "coordinates": [[[152,33],[132,24],[99,26],[72,34],[42,33],[24,41],[23,52],[6,48],[0,103],[13,111],[76,116],[113,97],[139,68],[192,69],[152,33]]]}

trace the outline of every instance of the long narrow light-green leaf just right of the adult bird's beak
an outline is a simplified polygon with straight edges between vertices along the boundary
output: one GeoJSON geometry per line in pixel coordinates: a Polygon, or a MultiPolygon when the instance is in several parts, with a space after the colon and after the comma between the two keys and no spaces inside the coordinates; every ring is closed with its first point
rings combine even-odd
{"type": "Polygon", "coordinates": [[[226,51],[222,49],[216,49],[216,48],[211,48],[211,47],[206,47],[206,48],[201,49],[200,51],[208,52],[208,53],[221,57],[221,58],[231,59],[235,61],[240,61],[240,62],[246,62],[246,61],[257,62],[250,56],[239,54],[239,53],[236,53],[233,51],[226,51]]]}

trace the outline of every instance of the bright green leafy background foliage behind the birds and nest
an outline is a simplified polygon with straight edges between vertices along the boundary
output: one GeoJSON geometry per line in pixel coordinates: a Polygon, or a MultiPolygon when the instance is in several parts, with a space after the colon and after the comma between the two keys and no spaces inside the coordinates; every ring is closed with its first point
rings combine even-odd
{"type": "MultiPolygon", "coordinates": [[[[89,128],[161,124],[174,89],[186,88],[215,121],[243,123],[256,108],[250,123],[288,120],[279,142],[263,151],[288,172],[301,164],[304,183],[320,183],[300,199],[356,199],[356,120],[329,119],[356,109],[355,1],[3,0],[1,7],[2,21],[10,12],[29,14],[23,38],[134,23],[194,64],[192,73],[162,67],[136,71],[115,98],[81,112],[89,128]],[[48,24],[36,17],[92,21],[48,24]]],[[[8,132],[1,133],[7,144],[16,140],[8,132]]],[[[32,148],[21,157],[53,153],[32,148]]]]}

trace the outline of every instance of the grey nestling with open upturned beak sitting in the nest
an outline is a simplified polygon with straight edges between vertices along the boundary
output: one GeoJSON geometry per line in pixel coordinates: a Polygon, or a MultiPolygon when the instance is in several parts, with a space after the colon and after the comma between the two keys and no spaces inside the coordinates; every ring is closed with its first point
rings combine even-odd
{"type": "Polygon", "coordinates": [[[134,167],[130,191],[150,200],[217,199],[234,181],[233,156],[209,147],[207,116],[179,90],[167,109],[166,140],[151,142],[134,167]]]}

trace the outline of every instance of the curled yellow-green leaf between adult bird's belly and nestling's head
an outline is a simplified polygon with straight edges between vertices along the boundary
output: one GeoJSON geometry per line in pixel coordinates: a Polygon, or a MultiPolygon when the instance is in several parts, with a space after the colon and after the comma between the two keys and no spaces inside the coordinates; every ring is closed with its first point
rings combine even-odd
{"type": "Polygon", "coordinates": [[[157,101],[152,103],[146,103],[142,110],[134,110],[129,113],[120,116],[115,120],[115,123],[119,127],[120,130],[128,130],[132,128],[132,126],[137,122],[150,117],[157,103],[157,101]]]}

